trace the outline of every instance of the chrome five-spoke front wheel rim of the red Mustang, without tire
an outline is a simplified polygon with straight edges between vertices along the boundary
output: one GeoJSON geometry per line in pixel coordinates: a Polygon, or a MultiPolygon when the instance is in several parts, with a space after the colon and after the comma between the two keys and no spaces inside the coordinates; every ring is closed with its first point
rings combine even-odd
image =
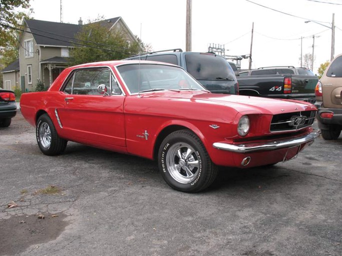
{"type": "Polygon", "coordinates": [[[180,183],[190,183],[196,179],[200,166],[200,156],[187,143],[173,144],[166,154],[166,164],[170,175],[180,183]]]}

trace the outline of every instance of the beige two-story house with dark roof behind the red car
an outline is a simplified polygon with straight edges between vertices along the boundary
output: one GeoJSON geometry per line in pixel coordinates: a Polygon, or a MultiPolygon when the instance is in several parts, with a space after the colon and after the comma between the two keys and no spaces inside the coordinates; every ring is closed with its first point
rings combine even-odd
{"type": "MultiPolygon", "coordinates": [[[[121,33],[130,42],[137,41],[122,17],[97,21],[113,33],[121,33]]],[[[21,86],[22,91],[33,91],[41,81],[48,87],[67,67],[69,49],[73,39],[81,30],[83,21],[78,24],[51,22],[38,19],[24,19],[26,27],[19,37],[19,60],[1,72],[4,75],[4,88],[21,86]],[[18,68],[19,65],[19,68],[18,68]]]]}

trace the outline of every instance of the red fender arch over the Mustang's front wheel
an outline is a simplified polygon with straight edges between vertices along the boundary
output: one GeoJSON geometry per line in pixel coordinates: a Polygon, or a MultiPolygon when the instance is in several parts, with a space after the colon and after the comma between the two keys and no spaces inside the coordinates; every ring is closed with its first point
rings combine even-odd
{"type": "Polygon", "coordinates": [[[170,133],[177,131],[177,130],[182,130],[182,129],[190,130],[191,132],[193,132],[194,134],[196,134],[199,137],[199,139],[202,141],[204,146],[206,145],[204,135],[192,123],[189,123],[189,122],[168,123],[168,124],[164,125],[163,127],[161,127],[159,132],[157,132],[158,135],[156,136],[154,146],[153,146],[153,155],[152,155],[153,159],[157,159],[159,147],[160,147],[162,141],[164,140],[164,138],[166,138],[167,135],[169,135],[170,133]]]}

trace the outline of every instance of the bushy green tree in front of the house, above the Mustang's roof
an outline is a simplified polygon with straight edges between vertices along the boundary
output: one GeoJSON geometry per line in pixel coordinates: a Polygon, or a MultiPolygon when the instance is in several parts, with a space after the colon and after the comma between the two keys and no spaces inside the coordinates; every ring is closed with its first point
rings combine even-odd
{"type": "MultiPolygon", "coordinates": [[[[138,42],[129,45],[120,33],[109,31],[108,28],[101,25],[101,22],[93,21],[83,25],[75,38],[74,48],[70,50],[68,63],[70,66],[94,61],[122,59],[139,53],[139,38],[137,38],[138,42]]],[[[150,45],[142,45],[150,47],[150,45]]]]}

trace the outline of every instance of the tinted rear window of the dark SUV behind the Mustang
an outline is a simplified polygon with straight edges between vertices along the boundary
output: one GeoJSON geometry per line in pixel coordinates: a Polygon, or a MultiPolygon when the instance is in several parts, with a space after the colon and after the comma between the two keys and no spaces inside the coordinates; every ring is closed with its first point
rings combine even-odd
{"type": "Polygon", "coordinates": [[[233,69],[222,56],[211,53],[187,53],[185,62],[187,71],[197,80],[236,80],[233,69]]]}

